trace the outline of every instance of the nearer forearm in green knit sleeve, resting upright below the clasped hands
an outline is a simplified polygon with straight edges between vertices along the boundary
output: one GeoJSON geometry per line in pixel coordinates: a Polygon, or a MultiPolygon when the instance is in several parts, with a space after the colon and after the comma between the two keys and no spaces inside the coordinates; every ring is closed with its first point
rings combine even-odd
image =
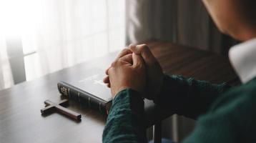
{"type": "Polygon", "coordinates": [[[102,142],[147,142],[144,102],[138,92],[124,89],[117,94],[109,111],[102,142]]]}

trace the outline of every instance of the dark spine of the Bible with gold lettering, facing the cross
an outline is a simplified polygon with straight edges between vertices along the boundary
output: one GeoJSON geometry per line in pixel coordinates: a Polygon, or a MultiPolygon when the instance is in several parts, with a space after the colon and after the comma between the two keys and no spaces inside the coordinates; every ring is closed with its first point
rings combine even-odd
{"type": "Polygon", "coordinates": [[[74,89],[61,83],[58,83],[58,89],[59,93],[61,93],[68,99],[72,99],[75,102],[79,102],[79,104],[97,110],[102,114],[108,114],[108,109],[106,109],[106,106],[108,108],[108,105],[92,96],[89,96],[87,93],[84,93],[82,91],[79,92],[77,89],[74,89]]]}

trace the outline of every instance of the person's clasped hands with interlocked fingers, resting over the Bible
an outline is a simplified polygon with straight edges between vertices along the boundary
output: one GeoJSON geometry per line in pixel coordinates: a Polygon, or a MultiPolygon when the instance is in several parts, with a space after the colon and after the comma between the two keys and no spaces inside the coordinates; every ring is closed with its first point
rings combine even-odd
{"type": "Polygon", "coordinates": [[[105,73],[103,82],[111,88],[113,98],[130,88],[147,99],[155,99],[162,90],[162,68],[146,44],[123,49],[105,73]]]}

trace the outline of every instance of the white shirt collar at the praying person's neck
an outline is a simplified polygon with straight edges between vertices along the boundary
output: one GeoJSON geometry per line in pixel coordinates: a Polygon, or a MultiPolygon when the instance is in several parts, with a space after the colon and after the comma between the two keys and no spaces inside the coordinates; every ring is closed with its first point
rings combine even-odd
{"type": "Polygon", "coordinates": [[[229,56],[243,84],[256,77],[256,39],[233,46],[229,56]]]}

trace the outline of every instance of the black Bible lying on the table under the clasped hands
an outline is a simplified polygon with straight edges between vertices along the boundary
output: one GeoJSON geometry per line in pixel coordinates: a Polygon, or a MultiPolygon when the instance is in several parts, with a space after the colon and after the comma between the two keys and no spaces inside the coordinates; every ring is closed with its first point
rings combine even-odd
{"type": "Polygon", "coordinates": [[[86,107],[108,114],[112,104],[110,89],[102,82],[102,69],[88,69],[58,83],[59,92],[86,107]]]}

